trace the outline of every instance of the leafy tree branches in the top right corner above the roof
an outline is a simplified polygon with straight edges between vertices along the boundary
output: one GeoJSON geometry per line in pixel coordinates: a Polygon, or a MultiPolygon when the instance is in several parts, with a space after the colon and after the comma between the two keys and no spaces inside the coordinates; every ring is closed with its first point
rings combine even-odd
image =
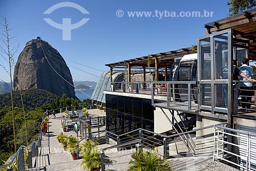
{"type": "Polygon", "coordinates": [[[229,0],[229,15],[238,14],[256,6],[255,0],[229,0]]]}

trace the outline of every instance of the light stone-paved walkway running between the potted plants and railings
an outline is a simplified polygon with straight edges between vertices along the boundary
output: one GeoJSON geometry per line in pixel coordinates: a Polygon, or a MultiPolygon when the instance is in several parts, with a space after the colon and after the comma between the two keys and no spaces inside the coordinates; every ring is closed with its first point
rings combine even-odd
{"type": "MultiPolygon", "coordinates": [[[[100,116],[104,115],[99,110],[90,111],[91,116],[100,116]]],[[[72,160],[72,156],[68,151],[64,151],[61,143],[58,142],[56,136],[62,132],[61,129],[61,114],[56,114],[57,118],[49,119],[49,133],[48,136],[42,137],[42,147],[41,147],[41,157],[38,158],[38,165],[46,166],[48,171],[82,171],[83,168],[80,165],[81,159],[72,160]],[[49,138],[48,138],[49,137],[49,138]],[[40,161],[39,161],[40,160],[40,161]]],[[[73,131],[63,132],[68,136],[76,136],[76,133],[73,131]]],[[[104,148],[108,146],[106,144],[101,145],[100,147],[104,148]]],[[[112,165],[106,166],[106,169],[110,170],[127,170],[128,162],[131,159],[133,151],[117,152],[116,149],[110,149],[105,151],[105,155],[110,157],[113,162],[112,165]]],[[[172,162],[173,171],[236,171],[230,166],[227,166],[221,162],[212,162],[212,157],[186,157],[186,158],[173,158],[169,159],[172,162]]]]}

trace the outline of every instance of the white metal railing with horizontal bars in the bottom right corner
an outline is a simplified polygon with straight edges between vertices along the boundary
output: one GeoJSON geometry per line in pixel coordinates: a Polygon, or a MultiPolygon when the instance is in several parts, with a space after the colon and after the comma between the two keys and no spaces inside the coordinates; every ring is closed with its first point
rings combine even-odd
{"type": "Polygon", "coordinates": [[[228,127],[215,126],[214,158],[240,170],[256,170],[256,135],[228,127]]]}

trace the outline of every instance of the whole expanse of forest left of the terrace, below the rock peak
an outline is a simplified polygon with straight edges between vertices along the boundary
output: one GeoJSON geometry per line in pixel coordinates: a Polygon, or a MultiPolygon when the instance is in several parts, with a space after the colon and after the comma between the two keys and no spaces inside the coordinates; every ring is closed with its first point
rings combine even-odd
{"type": "MultiPolygon", "coordinates": [[[[45,90],[29,89],[21,92],[25,107],[29,143],[37,140],[38,133],[40,133],[42,114],[44,114],[46,109],[54,110],[71,105],[89,108],[91,105],[90,99],[80,102],[78,99],[69,98],[65,94],[58,97],[45,90]]],[[[10,99],[10,93],[0,95],[0,164],[3,163],[2,160],[6,161],[14,152],[10,99]]],[[[18,148],[21,144],[26,145],[25,119],[19,91],[14,92],[14,106],[16,148],[18,148]]]]}

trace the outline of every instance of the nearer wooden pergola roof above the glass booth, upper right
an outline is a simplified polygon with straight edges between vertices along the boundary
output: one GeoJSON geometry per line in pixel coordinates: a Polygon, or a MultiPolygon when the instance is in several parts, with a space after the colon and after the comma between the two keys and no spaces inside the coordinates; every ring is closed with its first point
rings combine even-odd
{"type": "Polygon", "coordinates": [[[208,33],[232,28],[233,35],[249,47],[249,59],[256,59],[256,8],[204,25],[208,33]]]}

